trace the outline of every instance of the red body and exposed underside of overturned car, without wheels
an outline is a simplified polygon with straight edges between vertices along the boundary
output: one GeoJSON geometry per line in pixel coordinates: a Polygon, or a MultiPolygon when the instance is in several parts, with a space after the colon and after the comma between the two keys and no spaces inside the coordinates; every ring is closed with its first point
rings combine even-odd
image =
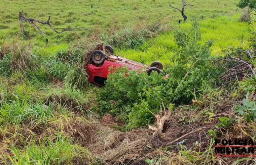
{"type": "Polygon", "coordinates": [[[93,84],[104,86],[105,80],[108,78],[108,74],[111,73],[110,67],[116,68],[126,66],[128,69],[135,70],[147,70],[150,67],[145,64],[141,64],[135,61],[127,60],[125,58],[116,55],[106,55],[106,59],[101,66],[95,66],[93,64],[88,64],[85,69],[89,76],[89,81],[93,84]]]}

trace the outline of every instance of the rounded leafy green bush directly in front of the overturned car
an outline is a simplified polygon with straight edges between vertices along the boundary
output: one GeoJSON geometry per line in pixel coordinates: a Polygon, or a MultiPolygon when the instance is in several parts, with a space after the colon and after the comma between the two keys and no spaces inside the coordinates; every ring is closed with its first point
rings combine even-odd
{"type": "Polygon", "coordinates": [[[100,112],[118,116],[130,123],[130,128],[149,124],[154,118],[152,113],[157,113],[162,103],[167,108],[171,99],[172,84],[162,76],[126,68],[109,74],[106,87],[97,94],[100,112]]]}

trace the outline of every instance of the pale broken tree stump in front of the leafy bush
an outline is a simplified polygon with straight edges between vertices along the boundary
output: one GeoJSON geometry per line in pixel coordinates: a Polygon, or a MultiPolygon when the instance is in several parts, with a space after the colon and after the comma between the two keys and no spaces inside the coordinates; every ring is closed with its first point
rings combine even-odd
{"type": "Polygon", "coordinates": [[[160,106],[160,112],[157,115],[154,114],[154,116],[156,118],[156,122],[157,122],[157,127],[148,125],[149,129],[152,129],[155,131],[153,136],[155,136],[157,133],[161,133],[163,131],[164,122],[166,120],[168,120],[172,115],[172,111],[171,111],[170,107],[168,108],[168,111],[166,111],[164,107],[163,107],[163,109],[164,109],[164,111],[162,110],[162,107],[160,106]]]}

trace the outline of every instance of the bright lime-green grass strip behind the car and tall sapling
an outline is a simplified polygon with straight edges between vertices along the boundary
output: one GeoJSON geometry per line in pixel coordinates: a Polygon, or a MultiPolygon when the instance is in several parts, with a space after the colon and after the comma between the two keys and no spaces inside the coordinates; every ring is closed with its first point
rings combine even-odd
{"type": "MultiPolygon", "coordinates": [[[[239,22],[239,16],[240,14],[236,13],[232,16],[218,16],[200,21],[202,34],[200,43],[212,40],[214,42],[211,47],[213,56],[223,56],[225,54],[223,49],[228,47],[249,47],[252,34],[247,22],[239,22]]],[[[182,23],[179,28],[187,31],[191,28],[191,22],[182,23]]],[[[176,48],[173,31],[169,31],[146,41],[135,49],[116,49],[115,52],[127,59],[146,64],[153,61],[172,64],[172,57],[175,53],[173,50],[176,48]]]]}

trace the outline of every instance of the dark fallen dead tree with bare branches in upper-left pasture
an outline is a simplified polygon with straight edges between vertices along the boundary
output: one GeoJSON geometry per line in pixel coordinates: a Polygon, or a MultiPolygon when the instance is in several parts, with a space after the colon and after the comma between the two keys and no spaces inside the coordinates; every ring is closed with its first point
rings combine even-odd
{"type": "MultiPolygon", "coordinates": [[[[23,11],[22,11],[22,12],[23,12],[23,11]]],[[[24,34],[24,26],[23,26],[22,20],[26,20],[26,21],[28,21],[29,23],[31,23],[44,37],[46,37],[46,36],[45,36],[44,33],[41,31],[41,29],[35,24],[35,22],[38,22],[38,23],[41,23],[41,24],[47,24],[47,25],[49,25],[50,28],[51,28],[54,32],[56,32],[56,33],[58,33],[58,34],[63,33],[63,32],[65,32],[65,31],[72,31],[72,30],[75,30],[75,29],[86,29],[85,27],[76,27],[76,28],[70,28],[70,29],[66,29],[66,28],[54,28],[54,27],[51,26],[51,24],[50,24],[50,22],[49,22],[51,16],[49,16],[49,18],[47,19],[46,22],[43,22],[43,21],[39,21],[39,20],[33,19],[33,18],[26,18],[25,16],[22,15],[22,12],[19,13],[19,20],[20,20],[20,26],[21,26],[21,33],[23,33],[23,34],[24,34]],[[62,29],[62,31],[58,32],[57,29],[62,29]]],[[[46,42],[48,42],[48,39],[47,39],[47,38],[46,38],[46,42]]]]}

